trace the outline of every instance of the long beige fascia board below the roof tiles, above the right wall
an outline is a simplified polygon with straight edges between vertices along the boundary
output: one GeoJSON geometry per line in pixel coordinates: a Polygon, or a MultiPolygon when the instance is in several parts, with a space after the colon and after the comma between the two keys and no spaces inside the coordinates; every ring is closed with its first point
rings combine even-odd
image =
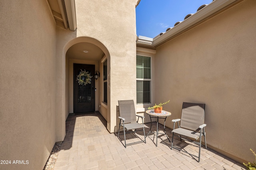
{"type": "Polygon", "coordinates": [[[236,1],[238,0],[214,0],[213,2],[208,4],[207,6],[205,6],[204,8],[202,8],[201,10],[199,10],[198,12],[196,12],[195,14],[187,18],[186,20],[174,26],[172,29],[170,29],[166,33],[162,34],[159,37],[154,38],[152,46],[156,47],[158,45],[161,45],[165,41],[168,41],[175,35],[184,31],[188,27],[204,20],[205,18],[211,16],[212,14],[218,12],[222,8],[225,8],[226,6],[236,1]]]}

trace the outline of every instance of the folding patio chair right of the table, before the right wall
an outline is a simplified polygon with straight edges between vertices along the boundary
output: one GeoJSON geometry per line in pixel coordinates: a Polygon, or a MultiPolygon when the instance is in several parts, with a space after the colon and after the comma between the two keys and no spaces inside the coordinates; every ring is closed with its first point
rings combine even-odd
{"type": "MultiPolygon", "coordinates": [[[[202,135],[204,136],[204,143],[205,143],[205,148],[207,149],[206,146],[206,133],[204,131],[204,127],[206,124],[204,124],[204,108],[205,104],[196,104],[196,103],[186,103],[183,102],[182,105],[182,113],[181,113],[181,119],[173,119],[172,121],[174,122],[173,125],[173,130],[172,130],[172,148],[186,152],[182,149],[179,149],[177,147],[173,146],[173,137],[174,133],[178,134],[178,137],[185,141],[191,141],[190,139],[195,139],[196,141],[192,141],[193,143],[199,145],[199,155],[196,156],[194,154],[188,154],[193,155],[198,157],[198,162],[200,162],[200,152],[201,152],[201,145],[202,145],[202,135]],[[180,125],[179,122],[180,121],[180,125]],[[178,123],[178,128],[175,129],[175,123],[178,123]],[[184,138],[184,137],[188,138],[184,138]],[[199,139],[199,142],[197,140],[199,139]]],[[[175,135],[177,136],[177,135],[175,135]]]]}

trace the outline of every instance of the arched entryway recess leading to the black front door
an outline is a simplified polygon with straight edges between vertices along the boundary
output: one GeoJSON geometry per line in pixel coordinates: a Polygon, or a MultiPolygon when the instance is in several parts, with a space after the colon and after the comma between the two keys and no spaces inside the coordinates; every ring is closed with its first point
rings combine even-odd
{"type": "Polygon", "coordinates": [[[91,37],[78,37],[67,43],[65,51],[65,102],[67,114],[100,111],[108,121],[108,106],[103,105],[102,107],[102,94],[104,93],[102,61],[105,59],[109,62],[110,55],[108,49],[100,41],[91,37]],[[92,76],[91,84],[86,86],[78,85],[76,76],[80,74],[80,70],[90,73],[90,76],[92,76]],[[100,74],[97,80],[94,78],[96,71],[97,74],[100,74]],[[86,94],[76,94],[77,92],[79,93],[79,89],[81,92],[83,87],[82,93],[85,92],[86,94]]]}

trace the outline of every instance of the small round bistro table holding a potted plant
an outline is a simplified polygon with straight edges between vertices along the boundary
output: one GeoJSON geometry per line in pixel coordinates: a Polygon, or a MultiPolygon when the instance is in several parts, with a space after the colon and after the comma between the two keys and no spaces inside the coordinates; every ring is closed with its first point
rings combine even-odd
{"type": "MultiPolygon", "coordinates": [[[[157,138],[158,138],[158,134],[164,134],[166,135],[166,131],[165,131],[165,121],[166,121],[166,117],[170,116],[172,113],[171,112],[168,112],[168,111],[164,111],[162,110],[161,113],[155,113],[154,112],[154,109],[152,110],[147,110],[146,113],[149,115],[150,117],[150,129],[149,129],[149,132],[148,132],[148,135],[150,133],[156,133],[156,147],[157,147],[157,138]],[[156,123],[156,132],[152,132],[151,131],[151,127],[152,127],[152,119],[151,118],[157,118],[157,123],[156,123]],[[158,133],[158,120],[159,119],[164,119],[164,133],[158,133]]],[[[146,137],[148,136],[146,135],[146,137]]],[[[170,139],[168,138],[168,136],[166,135],[167,139],[170,141],[170,139]]],[[[154,142],[154,139],[153,139],[153,142],[154,142]]]]}

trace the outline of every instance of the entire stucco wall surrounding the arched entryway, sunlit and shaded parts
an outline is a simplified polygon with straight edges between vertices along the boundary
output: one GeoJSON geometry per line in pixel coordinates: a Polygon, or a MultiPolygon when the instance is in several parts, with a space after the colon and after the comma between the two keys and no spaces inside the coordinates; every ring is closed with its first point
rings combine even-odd
{"type": "MultiPolygon", "coordinates": [[[[63,141],[65,120],[72,110],[70,102],[72,68],[70,68],[70,61],[66,60],[66,51],[72,45],[79,42],[92,43],[100,47],[108,59],[108,104],[106,108],[101,106],[98,109],[108,121],[107,128],[110,132],[114,132],[116,128],[118,100],[134,99],[136,101],[135,7],[137,2],[138,0],[125,0],[118,3],[114,0],[76,0],[76,31],[57,28],[56,141],[63,141]]],[[[81,63],[84,62],[86,61],[81,61],[81,63]]],[[[101,69],[100,66],[99,69],[101,69]]],[[[96,107],[101,105],[103,94],[100,84],[98,85],[96,107]]]]}

